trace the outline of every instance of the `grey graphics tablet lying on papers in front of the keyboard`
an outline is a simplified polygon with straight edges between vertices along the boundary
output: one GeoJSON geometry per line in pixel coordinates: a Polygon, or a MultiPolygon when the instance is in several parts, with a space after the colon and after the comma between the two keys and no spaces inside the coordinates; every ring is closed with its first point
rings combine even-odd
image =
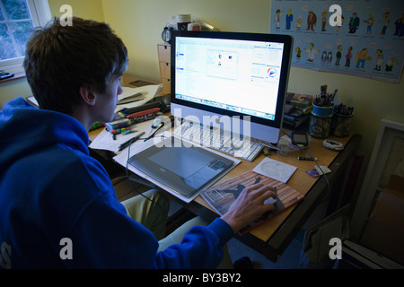
{"type": "Polygon", "coordinates": [[[129,164],[186,197],[233,167],[232,160],[173,137],[137,153],[129,164]]]}

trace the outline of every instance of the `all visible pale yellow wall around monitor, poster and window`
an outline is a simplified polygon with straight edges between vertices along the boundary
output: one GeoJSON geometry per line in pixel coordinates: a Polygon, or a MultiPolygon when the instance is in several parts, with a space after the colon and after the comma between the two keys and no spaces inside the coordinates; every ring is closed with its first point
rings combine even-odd
{"type": "MultiPolygon", "coordinates": [[[[61,15],[61,4],[70,4],[74,15],[109,22],[129,52],[127,73],[159,80],[157,43],[171,15],[190,13],[220,30],[267,33],[270,0],[49,0],[52,15],[61,15]]],[[[320,86],[338,89],[338,101],[355,107],[354,131],[363,135],[360,152],[364,168],[382,118],[404,122],[404,81],[384,83],[344,74],[320,73],[291,68],[288,91],[315,95],[320,86]]],[[[29,89],[29,88],[28,88],[29,89]]],[[[26,93],[24,81],[0,85],[0,105],[7,97],[26,93]]]]}

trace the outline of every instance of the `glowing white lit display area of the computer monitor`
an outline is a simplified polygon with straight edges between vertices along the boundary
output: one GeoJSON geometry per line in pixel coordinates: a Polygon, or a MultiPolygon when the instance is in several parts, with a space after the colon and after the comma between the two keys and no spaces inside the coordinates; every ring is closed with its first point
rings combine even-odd
{"type": "Polygon", "coordinates": [[[175,98],[275,119],[284,44],[177,37],[175,98]]]}

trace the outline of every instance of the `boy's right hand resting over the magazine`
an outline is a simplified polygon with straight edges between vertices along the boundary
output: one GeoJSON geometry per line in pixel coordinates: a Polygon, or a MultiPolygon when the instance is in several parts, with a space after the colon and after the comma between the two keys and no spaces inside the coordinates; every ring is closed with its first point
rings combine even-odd
{"type": "Polygon", "coordinates": [[[268,198],[277,198],[275,188],[261,183],[245,187],[221,218],[227,222],[234,233],[258,219],[263,213],[274,210],[274,204],[265,204],[268,198]]]}

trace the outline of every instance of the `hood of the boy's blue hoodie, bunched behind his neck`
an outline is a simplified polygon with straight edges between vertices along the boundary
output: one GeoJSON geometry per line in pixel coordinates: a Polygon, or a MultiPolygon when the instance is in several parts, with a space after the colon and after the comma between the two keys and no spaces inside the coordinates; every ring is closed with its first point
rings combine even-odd
{"type": "Polygon", "coordinates": [[[22,98],[7,102],[0,111],[0,173],[13,161],[64,144],[88,155],[88,133],[75,117],[37,109],[22,98]]]}

